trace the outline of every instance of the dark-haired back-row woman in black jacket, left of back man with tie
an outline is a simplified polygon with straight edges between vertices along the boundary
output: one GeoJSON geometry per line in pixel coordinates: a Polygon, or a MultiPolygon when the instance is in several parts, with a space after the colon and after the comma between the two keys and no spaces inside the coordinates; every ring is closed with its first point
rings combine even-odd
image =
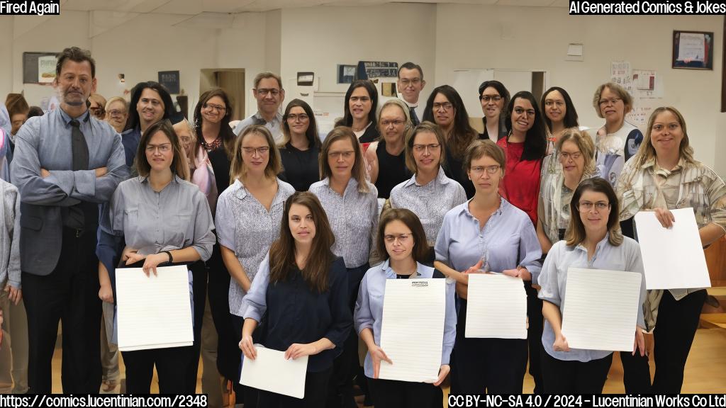
{"type": "Polygon", "coordinates": [[[343,118],[335,126],[348,126],[359,142],[367,144],[378,139],[375,113],[378,110],[378,89],[372,81],[359,79],[351,83],[346,91],[343,118]]]}

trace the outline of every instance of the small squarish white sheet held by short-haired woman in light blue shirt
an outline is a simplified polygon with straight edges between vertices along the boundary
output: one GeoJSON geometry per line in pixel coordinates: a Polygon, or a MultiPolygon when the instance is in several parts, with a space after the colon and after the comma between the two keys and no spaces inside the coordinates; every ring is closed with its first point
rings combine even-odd
{"type": "Polygon", "coordinates": [[[522,280],[502,274],[470,274],[464,335],[527,338],[527,293],[522,280]]]}

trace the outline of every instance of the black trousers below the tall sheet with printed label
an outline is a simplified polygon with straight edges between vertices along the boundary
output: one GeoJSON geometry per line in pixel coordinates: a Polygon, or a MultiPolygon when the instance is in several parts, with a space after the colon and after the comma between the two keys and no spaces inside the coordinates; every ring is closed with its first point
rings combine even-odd
{"type": "Polygon", "coordinates": [[[441,408],[433,405],[436,389],[433,384],[411,383],[409,381],[375,380],[368,378],[370,392],[375,400],[375,408],[441,408]]]}

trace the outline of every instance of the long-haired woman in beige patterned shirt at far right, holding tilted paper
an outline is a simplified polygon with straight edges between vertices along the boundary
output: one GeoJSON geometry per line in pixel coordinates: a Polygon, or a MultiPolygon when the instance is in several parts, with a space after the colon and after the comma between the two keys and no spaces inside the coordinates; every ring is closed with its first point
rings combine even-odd
{"type": "MultiPolygon", "coordinates": [[[[711,168],[693,158],[685,120],[674,107],[658,107],[648,120],[640,150],[618,180],[620,219],[655,211],[664,228],[670,210],[693,208],[703,247],[726,231],[726,187],[711,168]]],[[[683,370],[706,299],[705,289],[651,290],[645,305],[648,327],[655,325],[654,393],[680,393],[683,370]],[[657,320],[656,320],[657,318],[657,320]]]]}

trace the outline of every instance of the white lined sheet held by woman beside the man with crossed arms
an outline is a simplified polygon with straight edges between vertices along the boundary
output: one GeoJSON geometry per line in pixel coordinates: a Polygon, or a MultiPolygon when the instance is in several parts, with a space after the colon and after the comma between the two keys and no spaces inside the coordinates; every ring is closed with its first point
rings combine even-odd
{"type": "Polygon", "coordinates": [[[192,307],[187,266],[163,266],[147,277],[141,268],[116,269],[118,349],[191,346],[192,307]]]}

